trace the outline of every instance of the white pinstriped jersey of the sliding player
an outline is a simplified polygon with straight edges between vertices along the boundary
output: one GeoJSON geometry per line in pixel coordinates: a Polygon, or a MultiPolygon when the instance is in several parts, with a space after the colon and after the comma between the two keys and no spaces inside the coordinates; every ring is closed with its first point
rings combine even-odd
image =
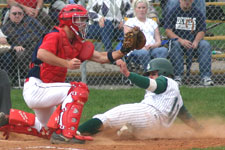
{"type": "Polygon", "coordinates": [[[173,123],[180,108],[183,106],[179,86],[176,81],[171,78],[167,78],[167,88],[165,92],[156,94],[146,90],[141,103],[154,107],[158,112],[161,124],[165,127],[169,127],[173,123]]]}

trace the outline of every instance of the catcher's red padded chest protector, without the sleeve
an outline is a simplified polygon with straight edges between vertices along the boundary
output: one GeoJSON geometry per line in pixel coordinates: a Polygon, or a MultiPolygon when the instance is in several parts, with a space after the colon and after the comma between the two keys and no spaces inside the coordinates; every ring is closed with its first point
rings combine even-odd
{"type": "MultiPolygon", "coordinates": [[[[63,29],[55,27],[59,32],[58,49],[56,56],[62,59],[78,58],[82,50],[82,42],[74,41],[73,44],[69,42],[66,33],[63,29]]],[[[40,79],[45,83],[64,82],[66,79],[67,68],[53,66],[47,63],[40,65],[40,79]]]]}

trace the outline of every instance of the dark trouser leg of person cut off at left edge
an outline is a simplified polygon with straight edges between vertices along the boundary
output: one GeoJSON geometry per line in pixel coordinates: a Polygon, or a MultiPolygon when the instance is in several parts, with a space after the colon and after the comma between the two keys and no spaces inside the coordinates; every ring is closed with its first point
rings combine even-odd
{"type": "Polygon", "coordinates": [[[0,112],[9,114],[11,108],[10,82],[7,73],[0,69],[0,112]]]}

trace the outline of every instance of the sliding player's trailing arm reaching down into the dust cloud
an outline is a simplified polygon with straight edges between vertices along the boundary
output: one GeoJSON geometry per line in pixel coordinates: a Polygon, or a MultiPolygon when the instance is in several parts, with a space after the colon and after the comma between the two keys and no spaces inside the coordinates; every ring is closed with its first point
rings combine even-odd
{"type": "Polygon", "coordinates": [[[181,107],[177,117],[194,130],[203,130],[203,127],[192,117],[184,105],[181,107]]]}

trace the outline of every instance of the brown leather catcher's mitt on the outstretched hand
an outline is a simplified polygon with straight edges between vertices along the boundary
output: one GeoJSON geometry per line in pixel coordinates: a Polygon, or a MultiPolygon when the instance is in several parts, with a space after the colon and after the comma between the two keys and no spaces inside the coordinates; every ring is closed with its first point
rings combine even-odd
{"type": "Polygon", "coordinates": [[[121,52],[126,54],[134,49],[141,49],[145,46],[146,38],[139,27],[132,28],[131,31],[125,33],[121,52]]]}

